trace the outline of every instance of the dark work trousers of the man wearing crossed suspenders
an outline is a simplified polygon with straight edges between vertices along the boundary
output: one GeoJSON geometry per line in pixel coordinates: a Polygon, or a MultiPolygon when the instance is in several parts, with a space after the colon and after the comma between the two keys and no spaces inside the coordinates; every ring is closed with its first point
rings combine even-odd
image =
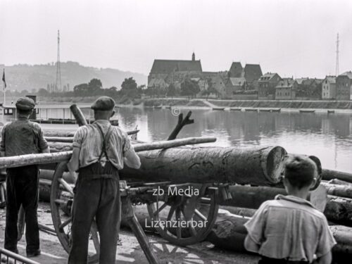
{"type": "Polygon", "coordinates": [[[107,162],[81,168],[73,201],[72,244],[68,263],[87,263],[89,232],[92,222],[100,237],[100,264],[115,263],[121,220],[118,170],[107,162]]]}

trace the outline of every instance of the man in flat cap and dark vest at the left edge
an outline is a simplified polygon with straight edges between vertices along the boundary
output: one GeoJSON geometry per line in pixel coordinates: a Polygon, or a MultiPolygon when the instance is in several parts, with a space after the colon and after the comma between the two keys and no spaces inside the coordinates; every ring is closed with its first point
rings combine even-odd
{"type": "MultiPolygon", "coordinates": [[[[4,125],[0,143],[1,157],[32,153],[49,153],[42,127],[28,118],[35,103],[28,97],[21,97],[15,103],[17,120],[4,125]]],[[[27,256],[40,254],[39,228],[37,220],[39,189],[38,165],[9,168],[6,175],[6,228],[5,249],[18,253],[17,218],[22,205],[25,210],[25,239],[27,256]]]]}

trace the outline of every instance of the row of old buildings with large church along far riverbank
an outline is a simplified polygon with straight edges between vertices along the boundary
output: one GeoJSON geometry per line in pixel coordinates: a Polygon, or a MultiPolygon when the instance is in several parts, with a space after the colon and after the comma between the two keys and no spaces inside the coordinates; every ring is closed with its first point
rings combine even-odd
{"type": "Polygon", "coordinates": [[[148,87],[167,90],[170,84],[180,89],[185,79],[199,84],[201,92],[210,86],[221,99],[336,99],[352,100],[352,72],[317,78],[283,78],[277,73],[262,73],[259,64],[233,62],[229,70],[204,72],[193,53],[190,61],[154,60],[148,87]]]}

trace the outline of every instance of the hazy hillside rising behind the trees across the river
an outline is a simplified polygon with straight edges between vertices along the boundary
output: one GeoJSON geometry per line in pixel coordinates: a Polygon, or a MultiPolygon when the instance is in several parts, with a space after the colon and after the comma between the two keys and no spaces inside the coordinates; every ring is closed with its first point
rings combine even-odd
{"type": "MultiPolygon", "coordinates": [[[[1,71],[2,68],[4,68],[4,65],[0,66],[1,71]]],[[[7,86],[11,90],[38,90],[40,88],[46,88],[47,84],[53,84],[56,80],[56,64],[19,64],[5,66],[5,71],[7,86]]],[[[85,67],[73,61],[61,63],[62,86],[69,84],[70,90],[77,84],[89,82],[92,78],[100,79],[103,83],[103,88],[115,86],[120,89],[121,83],[127,77],[133,77],[139,85],[146,84],[147,77],[141,73],[125,72],[111,68],[85,67]]]]}

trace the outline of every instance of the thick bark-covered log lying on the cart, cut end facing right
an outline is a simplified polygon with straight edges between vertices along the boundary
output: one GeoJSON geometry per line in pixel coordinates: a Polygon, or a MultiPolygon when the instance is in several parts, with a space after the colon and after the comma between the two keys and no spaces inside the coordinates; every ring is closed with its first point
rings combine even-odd
{"type": "Polygon", "coordinates": [[[236,182],[270,185],[280,180],[286,151],[270,147],[182,147],[139,153],[139,170],[124,168],[120,176],[145,182],[236,182]]]}

